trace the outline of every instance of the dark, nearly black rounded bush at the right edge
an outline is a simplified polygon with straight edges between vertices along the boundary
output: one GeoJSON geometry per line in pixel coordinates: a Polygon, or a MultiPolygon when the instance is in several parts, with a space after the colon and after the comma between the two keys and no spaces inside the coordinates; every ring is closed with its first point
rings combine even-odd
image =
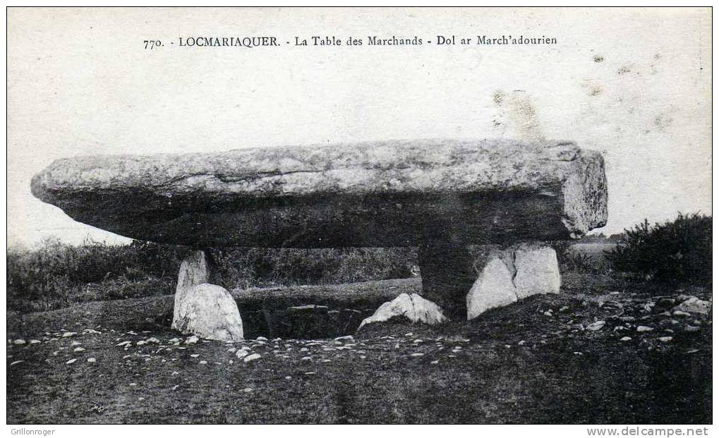
{"type": "Polygon", "coordinates": [[[608,252],[616,269],[669,283],[709,282],[712,278],[712,217],[679,213],[673,222],[644,220],[625,229],[608,252]]]}

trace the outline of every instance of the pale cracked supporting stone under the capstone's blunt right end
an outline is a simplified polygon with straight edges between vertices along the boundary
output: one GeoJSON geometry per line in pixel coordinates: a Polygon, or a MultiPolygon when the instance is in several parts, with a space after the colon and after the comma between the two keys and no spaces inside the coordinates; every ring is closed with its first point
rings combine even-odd
{"type": "Polygon", "coordinates": [[[559,293],[557,253],[549,245],[519,243],[475,260],[477,280],[467,293],[467,319],[539,293],[559,293]]]}

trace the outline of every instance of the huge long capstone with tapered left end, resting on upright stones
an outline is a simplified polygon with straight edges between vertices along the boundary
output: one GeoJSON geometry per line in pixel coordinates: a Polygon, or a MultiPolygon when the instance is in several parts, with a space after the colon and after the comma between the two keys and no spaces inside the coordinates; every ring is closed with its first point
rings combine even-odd
{"type": "Polygon", "coordinates": [[[76,157],[35,175],[32,193],[78,222],[194,247],[553,240],[607,219],[601,155],[550,141],[76,157]]]}

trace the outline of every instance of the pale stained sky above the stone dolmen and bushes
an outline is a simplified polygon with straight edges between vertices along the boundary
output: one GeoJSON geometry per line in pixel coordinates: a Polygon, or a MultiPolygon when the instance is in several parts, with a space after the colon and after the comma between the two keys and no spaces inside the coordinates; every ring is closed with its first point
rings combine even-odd
{"type": "Polygon", "coordinates": [[[58,158],[367,140],[573,140],[605,157],[598,231],[711,214],[709,9],[9,9],[7,32],[9,245],[129,241],[32,196],[58,158]],[[178,47],[193,36],[282,44],[178,47]],[[311,36],[365,44],[293,45],[311,36]]]}

